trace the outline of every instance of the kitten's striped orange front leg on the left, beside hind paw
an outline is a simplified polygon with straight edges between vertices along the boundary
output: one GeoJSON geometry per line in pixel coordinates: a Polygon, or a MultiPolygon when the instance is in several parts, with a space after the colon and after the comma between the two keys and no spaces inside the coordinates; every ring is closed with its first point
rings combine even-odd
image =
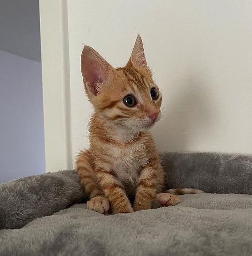
{"type": "Polygon", "coordinates": [[[112,213],[132,213],[130,201],[112,170],[96,169],[100,186],[110,202],[112,213]]]}

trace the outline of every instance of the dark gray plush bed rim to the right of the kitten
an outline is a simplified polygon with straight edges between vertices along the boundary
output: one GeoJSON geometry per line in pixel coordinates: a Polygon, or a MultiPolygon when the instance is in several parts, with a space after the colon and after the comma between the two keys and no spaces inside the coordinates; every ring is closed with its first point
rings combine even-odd
{"type": "Polygon", "coordinates": [[[218,153],[163,153],[167,188],[252,195],[252,156],[218,153]]]}

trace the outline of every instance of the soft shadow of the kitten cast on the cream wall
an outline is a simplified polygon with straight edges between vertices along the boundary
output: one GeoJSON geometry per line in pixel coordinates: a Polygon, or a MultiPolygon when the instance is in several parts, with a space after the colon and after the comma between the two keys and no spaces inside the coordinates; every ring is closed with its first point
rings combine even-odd
{"type": "MultiPolygon", "coordinates": [[[[213,106],[206,89],[210,85],[199,74],[189,77],[168,85],[176,89],[162,104],[162,117],[153,128],[158,151],[194,151],[202,131],[211,126],[213,106]]],[[[163,98],[167,98],[164,93],[163,98]]]]}

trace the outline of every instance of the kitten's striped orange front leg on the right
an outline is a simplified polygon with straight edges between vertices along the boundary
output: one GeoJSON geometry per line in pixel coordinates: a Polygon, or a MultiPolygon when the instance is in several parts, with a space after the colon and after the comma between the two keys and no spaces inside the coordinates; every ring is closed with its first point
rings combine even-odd
{"type": "Polygon", "coordinates": [[[157,176],[153,168],[145,167],[138,179],[137,193],[134,201],[134,211],[152,208],[157,186],[157,176]]]}

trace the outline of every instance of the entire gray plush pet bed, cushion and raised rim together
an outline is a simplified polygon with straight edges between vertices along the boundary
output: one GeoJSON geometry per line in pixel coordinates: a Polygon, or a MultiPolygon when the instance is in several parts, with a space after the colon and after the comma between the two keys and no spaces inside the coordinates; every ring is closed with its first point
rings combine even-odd
{"type": "Polygon", "coordinates": [[[74,170],[0,184],[0,256],[251,256],[252,157],[161,156],[167,188],[207,193],[180,196],[172,207],[103,216],[85,209],[74,170]]]}

